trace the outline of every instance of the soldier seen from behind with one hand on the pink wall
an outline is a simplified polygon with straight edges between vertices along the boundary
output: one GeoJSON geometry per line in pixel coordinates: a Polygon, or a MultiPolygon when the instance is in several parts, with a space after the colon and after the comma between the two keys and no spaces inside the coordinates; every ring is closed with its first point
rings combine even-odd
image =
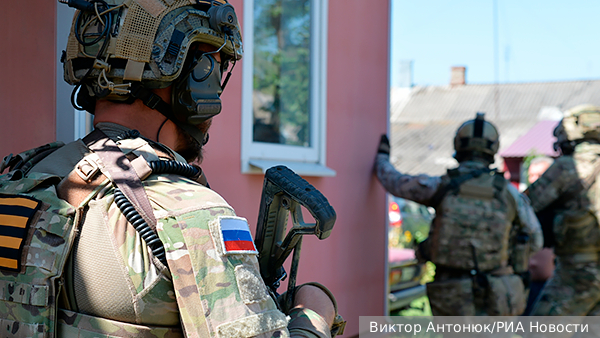
{"type": "Polygon", "coordinates": [[[489,168],[499,147],[496,127],[477,113],[454,137],[458,168],[441,177],[407,175],[389,161],[390,144],[381,137],[377,178],[394,196],[435,208],[429,238],[417,257],[436,265],[427,285],[433,315],[520,315],[526,295],[523,247],[542,246],[540,225],[526,197],[489,168]],[[518,240],[517,240],[518,239],[518,240]]]}

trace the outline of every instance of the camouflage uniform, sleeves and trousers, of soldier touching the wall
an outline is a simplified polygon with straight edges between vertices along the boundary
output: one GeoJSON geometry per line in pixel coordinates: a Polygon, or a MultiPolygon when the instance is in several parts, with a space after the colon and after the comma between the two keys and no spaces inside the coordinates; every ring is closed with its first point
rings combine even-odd
{"type": "MultiPolygon", "coordinates": [[[[485,170],[486,168],[486,165],[478,161],[463,161],[460,163],[457,171],[462,173],[473,170],[485,170]]],[[[389,155],[382,153],[377,155],[375,170],[377,178],[391,194],[435,208],[439,208],[443,204],[442,202],[436,203],[435,197],[436,193],[449,183],[450,179],[448,175],[432,177],[427,175],[412,176],[402,174],[389,162],[389,155]]],[[[477,179],[474,180],[476,181],[477,179]]],[[[512,185],[508,184],[505,180],[501,182],[505,185],[503,198],[505,200],[512,200],[512,202],[507,201],[507,203],[514,205],[515,210],[512,213],[507,211],[507,215],[496,215],[495,212],[497,211],[485,209],[491,212],[488,216],[509,218],[509,221],[512,221],[513,229],[520,228],[531,235],[532,250],[539,250],[542,246],[542,234],[529,202],[512,185]]],[[[477,209],[484,210],[483,207],[473,210],[479,212],[477,209]]],[[[436,212],[437,217],[443,214],[443,210],[436,209],[436,212]]],[[[463,215],[462,217],[465,217],[464,220],[467,221],[469,217],[477,218],[480,216],[473,214],[470,216],[463,215]]],[[[473,222],[477,224],[477,220],[473,222]]],[[[418,255],[425,254],[427,256],[432,251],[435,251],[433,250],[435,248],[428,247],[426,243],[431,242],[433,234],[441,233],[440,231],[443,230],[444,224],[439,223],[439,221],[434,221],[430,231],[430,239],[421,243],[422,245],[420,245],[419,250],[421,252],[418,255]]],[[[475,239],[476,233],[481,234],[483,231],[484,229],[477,228],[471,234],[462,234],[458,236],[455,243],[450,243],[450,246],[453,244],[457,246],[468,246],[469,244],[473,246],[476,244],[478,248],[486,246],[499,247],[498,253],[501,253],[502,256],[496,257],[493,260],[488,256],[477,255],[479,269],[484,273],[485,283],[488,284],[486,286],[487,291],[482,290],[483,287],[479,285],[480,280],[471,276],[471,268],[457,269],[446,265],[461,258],[472,264],[472,256],[457,257],[452,253],[438,252],[437,258],[426,258],[431,259],[436,264],[435,281],[427,285],[429,302],[434,315],[518,315],[524,309],[525,296],[523,294],[522,281],[507,266],[507,256],[510,252],[508,232],[505,231],[500,234],[501,238],[492,238],[491,234],[488,238],[488,232],[485,232],[485,237],[479,236],[478,239],[475,239]],[[475,241],[478,242],[475,243],[475,241]],[[501,295],[501,297],[492,295],[501,295]]],[[[441,237],[443,236],[440,235],[438,241],[451,240],[441,237]]],[[[467,252],[470,251],[467,250],[467,252]]]]}

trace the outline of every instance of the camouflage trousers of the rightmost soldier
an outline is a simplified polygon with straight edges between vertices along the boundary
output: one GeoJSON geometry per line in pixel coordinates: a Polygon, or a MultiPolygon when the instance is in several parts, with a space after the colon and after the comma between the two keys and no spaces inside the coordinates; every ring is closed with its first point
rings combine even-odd
{"type": "Polygon", "coordinates": [[[558,257],[531,316],[600,316],[600,266],[558,257]]]}

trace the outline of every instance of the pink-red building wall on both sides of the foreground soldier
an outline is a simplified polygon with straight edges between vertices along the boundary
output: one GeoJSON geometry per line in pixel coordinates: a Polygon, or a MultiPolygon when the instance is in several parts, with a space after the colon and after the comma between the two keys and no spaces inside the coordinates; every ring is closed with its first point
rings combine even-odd
{"type": "MultiPolygon", "coordinates": [[[[242,20],[243,0],[230,2],[242,20]]],[[[0,20],[8,32],[0,36],[0,70],[10,79],[0,84],[0,154],[56,138],[56,2],[34,3],[14,2],[0,20]]],[[[348,321],[345,337],[358,334],[359,316],[384,315],[385,193],[372,166],[387,130],[389,12],[387,0],[329,0],[326,165],[337,175],[307,179],[336,209],[337,222],[328,239],[304,241],[298,282],[318,281],[333,291],[348,321]]],[[[223,94],[203,169],[211,187],[254,227],[263,176],[241,173],[242,67],[223,94]]]]}

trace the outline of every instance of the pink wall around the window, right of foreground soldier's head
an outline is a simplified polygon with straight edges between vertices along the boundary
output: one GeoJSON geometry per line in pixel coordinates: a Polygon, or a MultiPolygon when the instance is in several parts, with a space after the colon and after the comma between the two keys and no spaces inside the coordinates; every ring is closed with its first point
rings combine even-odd
{"type": "MultiPolygon", "coordinates": [[[[231,3],[242,18],[243,1],[231,3]]],[[[359,316],[384,315],[385,193],[372,167],[387,130],[389,12],[389,1],[329,0],[326,165],[337,175],[305,177],[337,221],[328,239],[304,241],[298,282],[333,291],[348,320],[346,337],[358,334],[359,316]]],[[[202,167],[211,187],[254,227],[263,176],[240,172],[241,73],[235,70],[223,95],[202,167]]]]}

